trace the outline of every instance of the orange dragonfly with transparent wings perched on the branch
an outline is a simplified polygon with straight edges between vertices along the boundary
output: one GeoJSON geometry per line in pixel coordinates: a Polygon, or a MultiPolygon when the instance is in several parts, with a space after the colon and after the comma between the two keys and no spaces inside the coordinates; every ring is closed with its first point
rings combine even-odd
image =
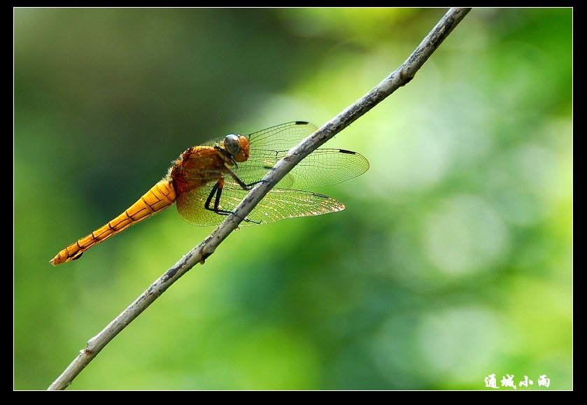
{"type": "MultiPolygon", "coordinates": [[[[174,203],[181,218],[192,225],[219,225],[290,148],[317,129],[305,121],[287,122],[252,134],[228,134],[188,148],[136,203],[61,250],[51,264],[79,259],[97,243],[174,203]]],[[[342,211],[345,206],[340,201],[306,189],[341,183],[367,169],[369,161],[358,152],[319,148],[280,180],[239,226],[342,211]]]]}

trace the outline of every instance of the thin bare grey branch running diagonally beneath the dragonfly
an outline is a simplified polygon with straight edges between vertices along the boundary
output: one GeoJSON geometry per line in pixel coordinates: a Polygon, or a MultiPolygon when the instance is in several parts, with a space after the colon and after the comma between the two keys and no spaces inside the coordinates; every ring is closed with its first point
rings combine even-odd
{"type": "Polygon", "coordinates": [[[204,260],[212,255],[215,249],[220,245],[227,236],[236,229],[242,218],[246,218],[253,211],[253,208],[263,199],[263,197],[278,183],[296,164],[304,157],[316,150],[320,145],[330,140],[335,134],[341,132],[344,128],[351,125],[361,115],[367,113],[374,106],[386,99],[392,92],[399,87],[409,83],[416,75],[416,72],[423,66],[432,53],[440,46],[442,41],[453,31],[459,22],[469,13],[470,8],[451,8],[446,15],[442,17],[439,23],[430,31],[418,48],[413,51],[406,62],[398,69],[393,71],[390,76],[385,78],[379,85],[373,88],[364,97],[346,108],[327,122],[323,127],[318,129],[314,134],[304,139],[295,148],[292,148],[288,155],[281,159],[274,169],[267,173],[260,183],[253,187],[236,207],[234,213],[229,215],[225,222],[210,234],[198,246],[190,250],[181,258],[171,269],[158,278],[155,283],[150,285],[148,290],[143,292],[128,308],[125,309],[115,320],[104,328],[97,336],[94,336],[87,342],[85,349],[80,351],[69,367],[53,382],[48,390],[64,390],[73,381],[78,374],[89,364],[94,357],[119,334],[130,322],[139,316],[146,308],[157,299],[167,288],[169,288],[178,278],[183,276],[187,271],[192,269],[196,264],[204,264],[204,260]]]}

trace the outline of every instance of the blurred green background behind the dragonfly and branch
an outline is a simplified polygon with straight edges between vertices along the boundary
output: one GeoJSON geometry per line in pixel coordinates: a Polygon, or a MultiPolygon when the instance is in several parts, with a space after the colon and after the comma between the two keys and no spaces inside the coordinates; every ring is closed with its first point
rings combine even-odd
{"type": "MultiPolygon", "coordinates": [[[[16,8],[14,388],[48,388],[213,228],[172,207],[59,250],[192,145],[323,125],[444,13],[16,8]]],[[[371,163],[316,190],[345,211],[234,232],[68,389],[572,389],[572,83],[572,9],[472,10],[327,143],[371,163]]]]}

